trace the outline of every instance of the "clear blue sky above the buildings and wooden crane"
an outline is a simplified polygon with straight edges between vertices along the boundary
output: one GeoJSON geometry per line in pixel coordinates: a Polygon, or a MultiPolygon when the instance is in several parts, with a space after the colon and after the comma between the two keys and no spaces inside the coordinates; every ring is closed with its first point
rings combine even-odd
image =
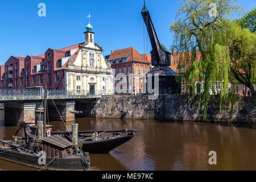
{"type": "MultiPolygon", "coordinates": [[[[237,4],[250,11],[256,0],[238,0],[237,4]]],[[[170,48],[169,26],[179,1],[147,0],[146,5],[160,42],[170,48]]],[[[142,7],[143,0],[0,0],[0,64],[5,64],[11,55],[37,56],[48,48],[84,42],[88,14],[95,42],[102,46],[104,55],[131,46],[144,53],[142,7]],[[46,17],[38,16],[38,4],[42,2],[46,4],[46,17]]]]}

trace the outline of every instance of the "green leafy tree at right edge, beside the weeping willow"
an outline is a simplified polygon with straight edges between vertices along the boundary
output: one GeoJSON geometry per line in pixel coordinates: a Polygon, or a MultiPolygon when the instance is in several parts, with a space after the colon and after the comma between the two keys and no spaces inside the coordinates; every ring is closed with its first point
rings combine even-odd
{"type": "Polygon", "coordinates": [[[254,94],[253,84],[256,82],[256,35],[249,29],[242,29],[235,22],[223,22],[223,28],[216,35],[216,42],[228,47],[230,70],[239,82],[247,86],[254,94]]]}

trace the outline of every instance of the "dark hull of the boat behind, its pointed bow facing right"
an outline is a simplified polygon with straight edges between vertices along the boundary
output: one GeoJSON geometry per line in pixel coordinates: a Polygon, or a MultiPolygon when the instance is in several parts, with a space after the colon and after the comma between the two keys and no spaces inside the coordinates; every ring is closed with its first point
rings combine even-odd
{"type": "Polygon", "coordinates": [[[108,154],[114,148],[121,146],[121,144],[129,141],[133,137],[134,133],[122,137],[99,141],[79,140],[79,143],[82,143],[82,151],[84,152],[89,152],[90,154],[108,154]]]}

